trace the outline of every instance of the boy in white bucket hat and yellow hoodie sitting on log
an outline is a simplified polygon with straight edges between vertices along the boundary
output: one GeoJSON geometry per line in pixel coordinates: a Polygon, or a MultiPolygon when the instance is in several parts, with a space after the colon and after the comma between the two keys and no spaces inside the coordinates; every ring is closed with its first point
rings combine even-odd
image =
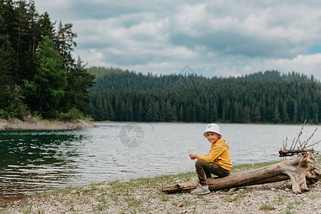
{"type": "Polygon", "coordinates": [[[198,155],[197,153],[190,153],[190,159],[197,158],[198,161],[195,162],[196,172],[198,173],[198,180],[200,185],[198,188],[190,192],[193,195],[202,195],[210,193],[208,185],[205,185],[205,175],[206,178],[212,178],[210,173],[218,175],[218,177],[225,177],[230,175],[230,169],[233,164],[230,158],[230,151],[228,151],[228,144],[222,139],[220,134],[220,127],[215,124],[209,124],[203,136],[208,138],[208,141],[212,143],[210,147],[210,152],[206,155],[198,155]]]}

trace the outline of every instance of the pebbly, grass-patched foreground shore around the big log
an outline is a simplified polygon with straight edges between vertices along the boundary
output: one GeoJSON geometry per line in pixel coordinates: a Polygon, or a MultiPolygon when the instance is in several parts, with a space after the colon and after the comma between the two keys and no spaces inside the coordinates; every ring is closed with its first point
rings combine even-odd
{"type": "MultiPolygon", "coordinates": [[[[320,168],[321,156],[316,156],[320,168]]],[[[233,173],[272,163],[238,165],[233,173]]],[[[295,195],[290,180],[212,191],[167,194],[165,185],[197,180],[195,172],[155,178],[113,180],[35,193],[14,200],[0,213],[321,213],[321,182],[295,195]]]]}

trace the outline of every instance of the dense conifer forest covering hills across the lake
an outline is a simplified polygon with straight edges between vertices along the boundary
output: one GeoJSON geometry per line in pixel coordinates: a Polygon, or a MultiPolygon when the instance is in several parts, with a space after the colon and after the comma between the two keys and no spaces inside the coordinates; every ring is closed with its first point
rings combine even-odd
{"type": "Polygon", "coordinates": [[[238,78],[155,75],[88,68],[96,76],[86,113],[95,121],[319,123],[320,81],[280,71],[238,78]]]}

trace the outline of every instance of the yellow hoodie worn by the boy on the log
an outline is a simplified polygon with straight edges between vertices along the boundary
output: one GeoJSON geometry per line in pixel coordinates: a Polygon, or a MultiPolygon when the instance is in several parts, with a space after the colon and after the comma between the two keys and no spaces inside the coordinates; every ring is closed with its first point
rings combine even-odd
{"type": "Polygon", "coordinates": [[[198,159],[206,161],[208,163],[218,163],[223,168],[230,170],[233,166],[230,158],[230,151],[228,151],[228,144],[222,138],[212,143],[210,147],[210,153],[206,155],[198,155],[198,159]]]}

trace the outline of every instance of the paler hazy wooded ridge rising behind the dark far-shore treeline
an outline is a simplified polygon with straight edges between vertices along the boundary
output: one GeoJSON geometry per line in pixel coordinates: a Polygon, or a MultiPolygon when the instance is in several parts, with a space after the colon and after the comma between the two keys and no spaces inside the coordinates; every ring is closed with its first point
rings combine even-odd
{"type": "MultiPolygon", "coordinates": [[[[168,89],[173,87],[183,80],[182,75],[155,75],[152,73],[136,73],[136,71],[121,70],[120,68],[103,68],[91,67],[88,68],[88,73],[96,76],[96,84],[91,88],[91,91],[108,91],[108,90],[155,90],[155,89],[168,89]]],[[[195,83],[210,83],[215,80],[225,81],[243,81],[243,82],[257,82],[257,81],[297,81],[309,82],[314,81],[313,76],[309,78],[306,75],[295,73],[281,74],[280,71],[265,71],[253,73],[241,77],[212,77],[205,78],[203,76],[193,76],[195,83]],[[197,79],[197,81],[196,81],[197,79]]]]}

